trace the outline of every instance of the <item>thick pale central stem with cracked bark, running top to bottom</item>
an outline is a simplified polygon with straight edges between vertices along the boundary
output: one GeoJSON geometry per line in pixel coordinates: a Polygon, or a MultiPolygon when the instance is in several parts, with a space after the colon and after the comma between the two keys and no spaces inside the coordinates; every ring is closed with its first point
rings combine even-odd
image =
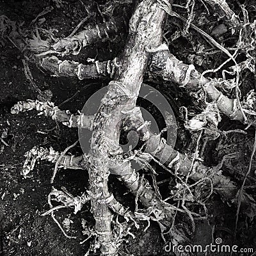
{"type": "Polygon", "coordinates": [[[117,251],[117,241],[111,230],[112,212],[108,205],[99,202],[110,196],[109,157],[121,150],[116,126],[136,104],[148,62],[145,47],[156,48],[161,44],[165,16],[155,1],[144,0],[138,4],[129,22],[129,38],[120,57],[120,75],[109,83],[93,122],[89,179],[91,193],[95,196],[91,200],[92,212],[102,254],[115,255],[117,251]]]}

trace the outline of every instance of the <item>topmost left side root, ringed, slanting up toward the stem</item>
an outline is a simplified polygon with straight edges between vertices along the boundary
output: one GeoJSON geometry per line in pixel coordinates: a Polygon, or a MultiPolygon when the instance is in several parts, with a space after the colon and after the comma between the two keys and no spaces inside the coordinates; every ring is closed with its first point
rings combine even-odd
{"type": "Polygon", "coordinates": [[[52,48],[55,51],[63,51],[65,49],[65,52],[71,52],[74,55],[79,54],[83,47],[108,40],[109,37],[124,31],[127,24],[125,19],[129,19],[127,16],[125,14],[123,17],[116,17],[104,24],[95,25],[93,28],[89,26],[75,36],[60,39],[56,44],[52,45],[52,48]]]}

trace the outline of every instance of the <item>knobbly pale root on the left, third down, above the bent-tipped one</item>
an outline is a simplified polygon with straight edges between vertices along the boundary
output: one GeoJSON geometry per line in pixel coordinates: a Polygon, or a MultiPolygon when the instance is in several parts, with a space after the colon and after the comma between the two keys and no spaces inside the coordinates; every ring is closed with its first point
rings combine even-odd
{"type": "Polygon", "coordinates": [[[62,111],[54,106],[52,102],[40,102],[39,100],[19,101],[12,107],[11,113],[18,114],[19,112],[26,112],[32,109],[40,112],[38,115],[44,114],[68,127],[91,129],[94,118],[94,116],[85,116],[83,113],[70,114],[70,111],[62,111]]]}

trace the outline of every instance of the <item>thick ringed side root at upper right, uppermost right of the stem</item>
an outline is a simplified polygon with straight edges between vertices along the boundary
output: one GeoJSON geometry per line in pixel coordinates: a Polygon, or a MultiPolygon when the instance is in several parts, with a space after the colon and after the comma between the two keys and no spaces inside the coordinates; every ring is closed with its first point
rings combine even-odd
{"type": "Polygon", "coordinates": [[[200,86],[203,86],[208,98],[216,101],[221,113],[227,115],[232,120],[245,123],[237,100],[229,99],[216,89],[218,81],[207,79],[195,70],[195,68],[191,70],[189,67],[191,66],[178,60],[169,51],[158,51],[154,53],[152,62],[150,63],[152,74],[162,76],[166,81],[173,81],[180,84],[180,86],[186,86],[189,90],[194,91],[198,90],[200,86]]]}

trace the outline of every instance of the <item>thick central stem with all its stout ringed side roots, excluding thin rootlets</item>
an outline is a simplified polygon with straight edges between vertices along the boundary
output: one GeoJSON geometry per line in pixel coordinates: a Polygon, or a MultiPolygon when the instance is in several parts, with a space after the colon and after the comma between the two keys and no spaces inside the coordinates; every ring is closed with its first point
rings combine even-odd
{"type": "MultiPolygon", "coordinates": [[[[219,13],[224,13],[227,22],[234,21],[233,17],[235,15],[229,12],[230,9],[225,5],[225,1],[220,3],[218,0],[207,0],[207,2],[219,4],[217,6],[220,8],[220,10],[218,9],[219,13]]],[[[225,200],[234,200],[239,191],[230,178],[221,174],[220,166],[211,168],[202,164],[198,159],[192,161],[186,154],[173,150],[159,134],[153,134],[147,125],[138,129],[141,124],[144,124],[144,120],[142,116],[139,118],[140,122],[134,118],[138,114],[136,113],[136,110],[138,110],[136,109],[136,99],[148,64],[150,72],[162,76],[164,80],[175,81],[175,83],[189,88],[191,91],[196,91],[202,86],[208,98],[216,101],[221,113],[231,119],[244,122],[243,113],[241,113],[236,100],[228,99],[216,88],[218,81],[203,77],[195,70],[193,65],[186,65],[177,60],[168,50],[163,50],[162,29],[166,17],[165,12],[168,11],[164,8],[164,4],[169,5],[168,1],[165,0],[143,0],[141,3],[134,1],[136,8],[129,22],[127,44],[122,54],[113,61],[109,60],[101,63],[95,61],[91,65],[83,65],[74,61],[61,61],[56,57],[46,55],[54,52],[60,54],[56,51],[65,51],[62,52],[63,54],[69,52],[78,54],[82,47],[106,40],[112,34],[116,35],[116,33],[122,31],[126,26],[125,17],[124,19],[120,18],[117,21],[111,20],[106,24],[97,25],[95,28],[87,28],[76,36],[62,38],[52,46],[55,51],[46,54],[35,55],[31,49],[24,47],[24,42],[17,33],[10,36],[29,60],[35,61],[40,67],[51,71],[56,76],[78,77],[79,79],[100,78],[102,76],[113,78],[95,116],[84,116],[81,113],[71,115],[68,111],[61,111],[51,102],[40,102],[38,100],[18,102],[12,108],[13,114],[36,109],[40,111],[40,114],[58,120],[68,125],[68,127],[92,129],[91,151],[88,156],[85,154],[79,157],[63,156],[65,152],[60,154],[52,148],[49,150],[33,148],[26,153],[27,159],[22,174],[26,177],[35,166],[36,159],[56,163],[56,168],[58,163],[60,167],[63,166],[64,168],[88,168],[90,182],[90,191],[88,192],[90,193],[92,213],[95,218],[96,243],[94,248],[100,248],[102,255],[116,255],[118,246],[122,242],[122,236],[112,229],[113,212],[124,216],[126,220],[136,218],[140,220],[140,212],[133,213],[125,209],[109,192],[108,177],[110,170],[111,173],[118,175],[118,179],[122,180],[125,186],[130,189],[131,193],[136,196],[136,200],[140,200],[147,208],[145,209],[145,212],[147,212],[145,216],[148,218],[150,216],[161,225],[164,223],[164,225],[170,226],[175,210],[177,210],[174,205],[164,202],[157,188],[152,189],[147,179],[140,177],[139,173],[132,169],[131,161],[125,158],[119,145],[120,131],[124,128],[122,127],[122,121],[125,119],[131,122],[128,126],[135,128],[139,132],[141,140],[147,145],[144,154],[144,156],[147,156],[146,161],[150,161],[154,156],[161,164],[162,159],[167,159],[168,168],[165,166],[163,168],[174,177],[179,178],[179,175],[188,175],[195,182],[204,181],[206,184],[208,184],[207,181],[211,180],[209,184],[212,184],[225,200]],[[152,58],[150,59],[150,57],[152,58]]],[[[217,7],[214,5],[214,8],[217,7]]],[[[134,157],[136,157],[136,154],[134,157]]],[[[154,160],[156,161],[156,159],[154,160]]],[[[182,180],[180,182],[182,183],[182,180]]],[[[184,182],[182,184],[184,185],[184,182]]],[[[184,189],[186,192],[188,188],[184,187],[184,189]]],[[[246,207],[251,206],[250,196],[246,193],[243,195],[242,204],[246,207]]],[[[255,211],[254,208],[253,210],[255,211]]],[[[163,230],[161,229],[161,231],[163,230]]],[[[182,236],[175,227],[171,228],[170,233],[180,243],[182,236]]]]}

